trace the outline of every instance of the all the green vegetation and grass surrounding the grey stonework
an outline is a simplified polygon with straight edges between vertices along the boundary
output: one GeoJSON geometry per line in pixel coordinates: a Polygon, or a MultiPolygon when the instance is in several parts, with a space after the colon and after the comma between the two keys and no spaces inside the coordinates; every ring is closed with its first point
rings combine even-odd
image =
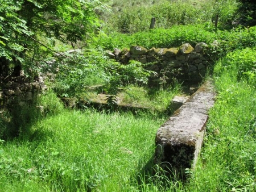
{"type": "Polygon", "coordinates": [[[0,113],[1,191],[256,191],[253,1],[0,4],[0,88],[20,69],[31,81],[39,73],[55,75],[34,103],[0,113]],[[149,30],[153,16],[155,29],[149,30]],[[155,132],[166,116],[68,110],[56,97],[86,98],[99,86],[110,102],[118,95],[127,103],[168,109],[181,82],[148,87],[152,72],[144,64],[121,65],[104,52],[199,42],[209,45],[207,54],[216,62],[218,96],[187,181],[168,177],[152,161],[155,132]]]}

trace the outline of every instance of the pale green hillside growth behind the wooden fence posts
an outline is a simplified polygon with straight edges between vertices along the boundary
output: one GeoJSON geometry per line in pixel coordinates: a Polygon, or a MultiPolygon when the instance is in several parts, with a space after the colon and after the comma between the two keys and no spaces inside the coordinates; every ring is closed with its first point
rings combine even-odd
{"type": "MultiPolygon", "coordinates": [[[[152,17],[156,28],[171,28],[177,24],[211,22],[218,14],[219,26],[230,28],[237,3],[230,1],[113,1],[112,12],[101,14],[106,32],[130,33],[147,31],[152,17]],[[138,5],[139,4],[139,5],[138,5]]],[[[213,25],[213,24],[212,24],[213,25]]]]}

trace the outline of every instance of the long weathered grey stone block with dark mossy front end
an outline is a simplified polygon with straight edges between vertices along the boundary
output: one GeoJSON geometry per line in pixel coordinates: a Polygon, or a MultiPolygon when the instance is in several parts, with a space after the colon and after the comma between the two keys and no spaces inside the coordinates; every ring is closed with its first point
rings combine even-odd
{"type": "Polygon", "coordinates": [[[155,138],[156,164],[182,178],[186,168],[195,166],[215,95],[211,82],[205,82],[159,128],[155,138]]]}

